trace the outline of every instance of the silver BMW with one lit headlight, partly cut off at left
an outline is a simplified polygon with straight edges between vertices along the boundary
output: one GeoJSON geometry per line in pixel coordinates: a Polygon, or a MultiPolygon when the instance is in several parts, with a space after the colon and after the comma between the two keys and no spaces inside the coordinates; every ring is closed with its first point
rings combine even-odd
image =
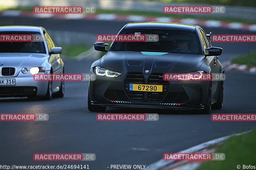
{"type": "MultiPolygon", "coordinates": [[[[64,81],[35,81],[34,74],[64,73],[56,47],[49,33],[39,26],[0,26],[0,97],[28,97],[51,100],[64,96],[64,81]],[[39,35],[39,41],[6,39],[6,35],[39,35]]],[[[12,36],[11,36],[12,37],[12,36]]],[[[8,38],[8,37],[7,37],[8,38]]],[[[10,36],[9,36],[10,38],[10,36]]]]}

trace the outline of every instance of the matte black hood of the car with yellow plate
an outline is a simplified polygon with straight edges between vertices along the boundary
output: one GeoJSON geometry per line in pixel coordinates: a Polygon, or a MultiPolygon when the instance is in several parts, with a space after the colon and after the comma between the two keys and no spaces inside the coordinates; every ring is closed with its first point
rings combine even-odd
{"type": "Polygon", "coordinates": [[[102,57],[100,66],[118,72],[149,70],[154,73],[186,73],[197,71],[204,63],[203,55],[109,51],[102,57]]]}

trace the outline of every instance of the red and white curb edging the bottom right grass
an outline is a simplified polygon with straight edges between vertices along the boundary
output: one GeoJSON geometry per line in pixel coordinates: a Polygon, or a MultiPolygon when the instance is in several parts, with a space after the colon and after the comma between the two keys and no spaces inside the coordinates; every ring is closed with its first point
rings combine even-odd
{"type": "MultiPolygon", "coordinates": [[[[248,132],[250,132],[250,131],[243,132],[243,133],[238,133],[238,134],[234,134],[234,135],[229,135],[229,136],[225,136],[225,137],[220,137],[220,138],[217,138],[217,139],[213,139],[213,140],[204,142],[202,144],[198,144],[196,146],[193,146],[191,148],[185,149],[185,150],[177,152],[177,153],[196,153],[196,152],[199,152],[199,151],[202,151],[202,150],[208,148],[209,146],[213,146],[213,145],[216,145],[216,144],[221,144],[221,142],[227,140],[229,137],[243,135],[243,134],[248,133],[248,132]]],[[[147,168],[147,170],[167,170],[167,169],[169,170],[171,167],[173,167],[172,169],[175,169],[175,168],[184,166],[184,162],[183,162],[183,164],[182,163],[176,164],[178,162],[180,163],[180,161],[176,161],[176,160],[160,159],[160,160],[158,160],[158,161],[156,161],[156,162],[154,162],[154,163],[152,163],[152,164],[150,164],[146,167],[149,167],[149,168],[147,168]]],[[[200,162],[197,162],[197,163],[200,164],[200,162]]],[[[198,167],[199,165],[194,164],[194,166],[198,167]]],[[[181,169],[184,170],[183,168],[181,168],[181,169]]]]}

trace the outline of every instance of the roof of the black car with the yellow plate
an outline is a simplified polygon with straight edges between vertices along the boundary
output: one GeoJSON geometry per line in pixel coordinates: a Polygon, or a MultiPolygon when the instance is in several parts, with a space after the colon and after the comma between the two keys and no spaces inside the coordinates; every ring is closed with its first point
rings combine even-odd
{"type": "Polygon", "coordinates": [[[172,30],[183,30],[183,31],[195,31],[196,26],[190,24],[181,24],[173,22],[133,22],[127,24],[125,29],[132,28],[152,28],[152,29],[172,29],[172,30]]]}

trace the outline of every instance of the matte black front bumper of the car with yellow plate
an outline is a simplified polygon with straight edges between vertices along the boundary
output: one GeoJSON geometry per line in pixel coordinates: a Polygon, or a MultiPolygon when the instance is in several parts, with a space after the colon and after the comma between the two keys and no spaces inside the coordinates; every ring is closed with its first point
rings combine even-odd
{"type": "MultiPolygon", "coordinates": [[[[150,83],[151,75],[143,76],[143,84],[150,83]]],[[[143,95],[135,94],[142,96],[140,101],[136,101],[129,94],[126,78],[127,75],[117,78],[96,75],[96,80],[89,83],[91,104],[108,107],[203,109],[207,102],[208,81],[169,81],[164,84],[166,91],[163,95],[160,93],[163,97],[159,100],[154,101],[150,99],[151,93],[142,92],[143,95]]]]}

